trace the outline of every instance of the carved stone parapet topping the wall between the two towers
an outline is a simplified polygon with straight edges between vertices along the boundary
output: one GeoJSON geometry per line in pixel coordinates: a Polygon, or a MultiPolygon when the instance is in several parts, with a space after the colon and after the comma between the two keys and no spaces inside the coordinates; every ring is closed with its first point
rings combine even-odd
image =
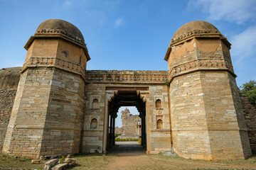
{"type": "Polygon", "coordinates": [[[87,70],[87,83],[165,84],[167,71],[87,70]]]}

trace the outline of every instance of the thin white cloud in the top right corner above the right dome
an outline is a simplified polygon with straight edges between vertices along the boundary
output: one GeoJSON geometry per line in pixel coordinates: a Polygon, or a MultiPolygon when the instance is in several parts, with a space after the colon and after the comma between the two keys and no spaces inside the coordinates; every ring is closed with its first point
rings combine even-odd
{"type": "Polygon", "coordinates": [[[255,0],[198,0],[196,4],[202,5],[203,11],[210,14],[208,19],[213,21],[225,20],[241,24],[256,16],[255,0]]]}

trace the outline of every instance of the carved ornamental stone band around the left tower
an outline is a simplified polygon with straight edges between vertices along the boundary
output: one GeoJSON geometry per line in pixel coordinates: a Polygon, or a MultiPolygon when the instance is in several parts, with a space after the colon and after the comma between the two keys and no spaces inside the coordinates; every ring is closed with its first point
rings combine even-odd
{"type": "Polygon", "coordinates": [[[21,73],[28,67],[57,67],[68,72],[80,74],[85,79],[85,70],[82,69],[80,64],[75,64],[55,57],[30,57],[23,64],[21,73]]]}

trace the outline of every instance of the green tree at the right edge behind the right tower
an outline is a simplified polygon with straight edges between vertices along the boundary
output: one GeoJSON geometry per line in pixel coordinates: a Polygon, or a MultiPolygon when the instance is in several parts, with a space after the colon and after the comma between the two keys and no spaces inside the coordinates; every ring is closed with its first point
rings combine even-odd
{"type": "Polygon", "coordinates": [[[240,86],[242,94],[256,107],[256,81],[250,80],[249,83],[240,86]]]}

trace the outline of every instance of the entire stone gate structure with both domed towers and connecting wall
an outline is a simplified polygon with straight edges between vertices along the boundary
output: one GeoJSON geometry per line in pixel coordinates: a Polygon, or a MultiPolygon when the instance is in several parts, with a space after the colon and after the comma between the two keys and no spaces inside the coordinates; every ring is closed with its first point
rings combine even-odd
{"type": "Polygon", "coordinates": [[[168,71],[86,70],[90,56],[80,30],[56,19],[41,23],[25,48],[10,117],[11,85],[1,91],[4,153],[105,153],[121,106],[137,107],[147,154],[210,160],[255,152],[255,109],[238,91],[230,43],[210,23],[176,31],[164,57],[168,71]]]}

